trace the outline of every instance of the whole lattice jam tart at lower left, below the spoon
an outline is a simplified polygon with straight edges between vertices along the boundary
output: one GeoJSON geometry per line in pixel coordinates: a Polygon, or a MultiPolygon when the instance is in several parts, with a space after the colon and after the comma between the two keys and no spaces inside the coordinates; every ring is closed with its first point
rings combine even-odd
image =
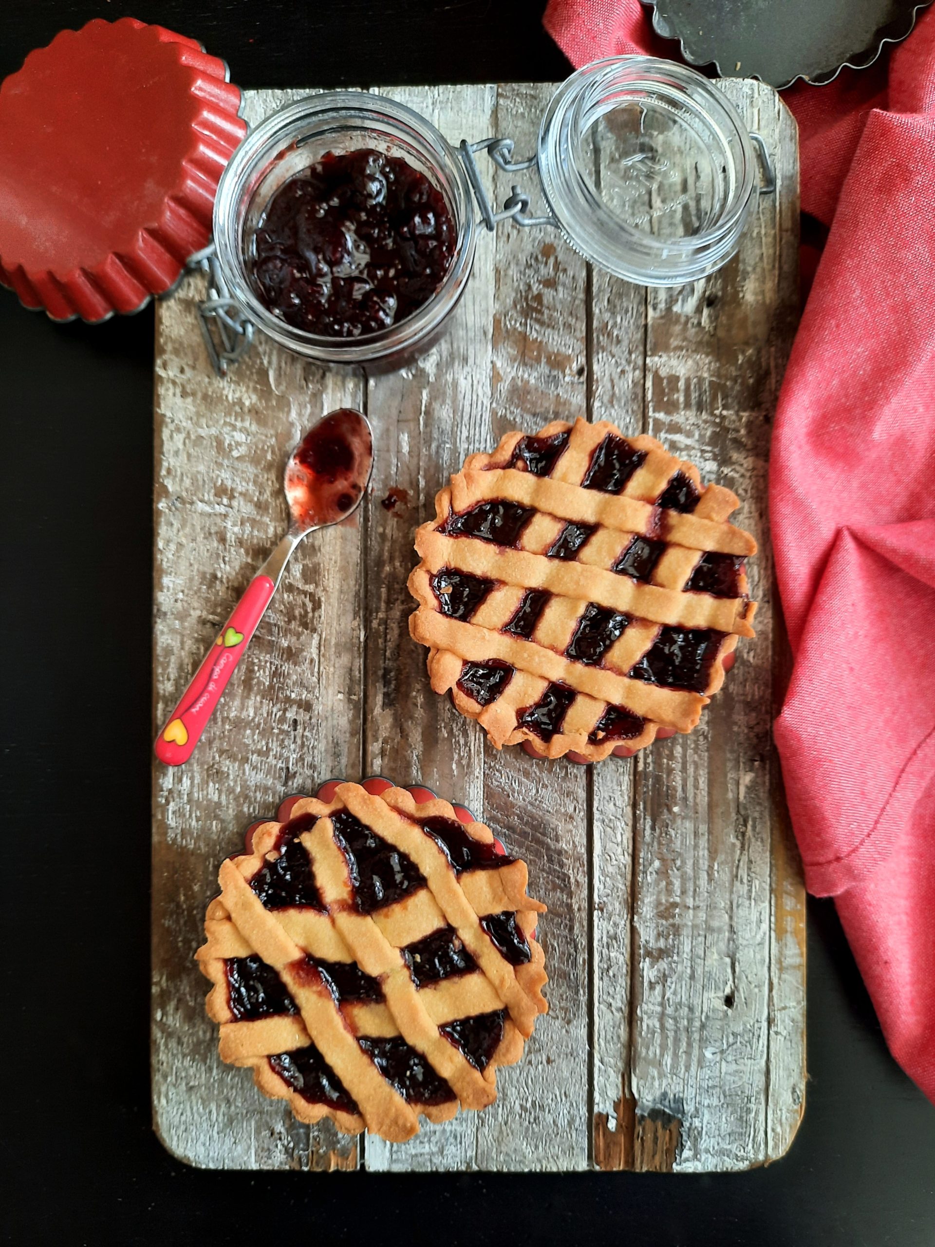
{"type": "Polygon", "coordinates": [[[221,865],[197,956],[222,1060],[302,1121],[403,1141],[420,1115],[496,1099],[547,1008],[545,907],[482,823],[369,787],[256,827],[221,865]]]}

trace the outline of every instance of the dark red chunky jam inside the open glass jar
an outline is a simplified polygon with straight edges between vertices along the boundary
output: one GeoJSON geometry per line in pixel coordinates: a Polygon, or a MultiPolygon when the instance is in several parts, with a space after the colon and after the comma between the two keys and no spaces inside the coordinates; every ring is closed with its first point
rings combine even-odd
{"type": "Polygon", "coordinates": [[[445,197],[406,161],[327,152],[269,201],[253,244],[254,288],[307,333],[376,333],[428,303],[456,237],[445,197]]]}

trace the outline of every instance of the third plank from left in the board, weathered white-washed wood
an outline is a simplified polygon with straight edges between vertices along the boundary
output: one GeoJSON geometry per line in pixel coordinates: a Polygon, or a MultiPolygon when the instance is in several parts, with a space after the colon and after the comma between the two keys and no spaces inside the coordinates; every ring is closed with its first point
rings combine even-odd
{"type": "MultiPolygon", "coordinates": [[[[497,96],[496,133],[516,157],[536,150],[547,85],[510,85],[497,96]]],[[[490,165],[492,171],[494,166],[490,165]]],[[[487,172],[487,171],[485,171],[487,172]]],[[[502,203],[530,173],[490,178],[502,203]]],[[[545,205],[534,200],[532,211],[545,205]]],[[[587,266],[554,229],[496,232],[492,338],[494,428],[535,433],[583,413],[587,392],[587,266]]],[[[496,1114],[477,1125],[479,1163],[500,1170],[581,1170],[590,1151],[588,808],[587,771],[520,749],[485,744],[484,813],[530,868],[532,894],[549,905],[540,936],[549,971],[549,1015],[522,1061],[499,1079],[496,1114]]]]}

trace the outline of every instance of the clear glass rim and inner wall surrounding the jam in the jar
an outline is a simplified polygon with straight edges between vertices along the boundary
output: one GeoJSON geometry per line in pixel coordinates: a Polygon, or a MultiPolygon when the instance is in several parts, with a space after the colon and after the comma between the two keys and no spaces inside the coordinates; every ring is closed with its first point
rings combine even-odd
{"type": "MultiPolygon", "coordinates": [[[[386,131],[386,137],[391,133],[386,131]]],[[[308,141],[308,138],[305,140],[308,141]]],[[[231,294],[258,328],[280,345],[327,363],[370,363],[418,343],[431,334],[451,311],[453,303],[474,262],[476,221],[474,198],[464,166],[445,136],[421,113],[388,96],[370,91],[322,91],[285,104],[253,127],[224,168],[214,200],[214,247],[231,294]],[[247,273],[238,213],[249,198],[263,170],[278,153],[300,145],[297,131],[312,127],[317,118],[339,118],[348,128],[373,128],[395,125],[436,176],[443,178],[446,197],[453,201],[458,229],[455,253],[435,293],[411,315],[375,333],[357,338],[335,338],[294,328],[274,315],[261,301],[247,273]]]]}

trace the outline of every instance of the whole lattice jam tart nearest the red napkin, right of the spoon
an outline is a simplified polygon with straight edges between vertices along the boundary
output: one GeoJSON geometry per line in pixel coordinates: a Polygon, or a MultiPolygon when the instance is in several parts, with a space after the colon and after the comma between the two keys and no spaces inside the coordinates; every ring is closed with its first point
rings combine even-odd
{"type": "Polygon", "coordinates": [[[416,531],[413,637],[491,742],[588,761],[691,732],[753,636],[729,489],[608,423],[509,433],[416,531]]]}

